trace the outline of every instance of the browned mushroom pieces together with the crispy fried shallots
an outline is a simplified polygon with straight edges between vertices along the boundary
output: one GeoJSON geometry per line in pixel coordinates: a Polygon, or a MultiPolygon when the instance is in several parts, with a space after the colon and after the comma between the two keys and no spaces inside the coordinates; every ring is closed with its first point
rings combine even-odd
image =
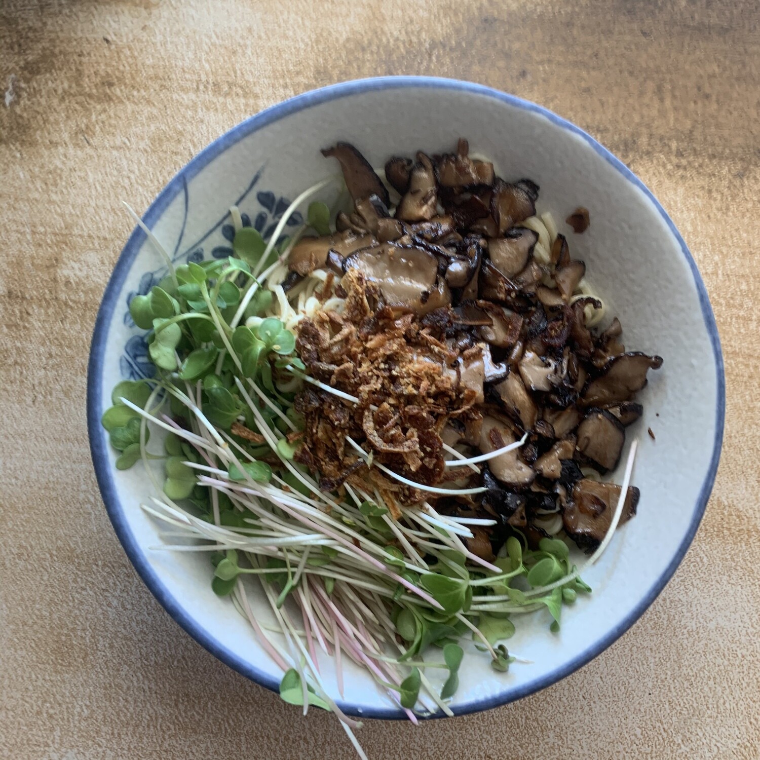
{"type": "MultiPolygon", "coordinates": [[[[286,285],[327,270],[331,295],[353,304],[332,322],[302,320],[298,347],[313,376],[359,404],[302,391],[301,461],[329,472],[325,487],[369,478],[384,496],[392,492],[391,502],[428,500],[444,514],[496,519],[470,540],[484,559],[515,530],[535,545],[564,529],[582,549],[596,548],[620,487],[593,473],[617,466],[625,428],[642,413],[635,396],[662,359],[626,352],[617,318],[603,331],[587,325],[587,307],[601,304],[579,293],[585,264],[570,257],[565,236],[556,236],[548,261],[534,255],[539,236],[522,225],[536,214],[535,182],[499,178],[492,163],[470,158],[465,140],[452,154],[392,157],[385,182],[353,145],[322,152],[340,163],[353,210],[337,214],[335,233],[298,242],[286,285]],[[393,350],[375,350],[391,339],[393,350]],[[435,367],[438,391],[395,382],[404,372],[415,377],[415,363],[425,363],[426,383],[435,367]],[[343,445],[349,434],[417,483],[486,491],[400,492],[343,445]],[[451,448],[473,457],[524,435],[521,448],[477,473],[444,465],[451,448]]],[[[582,211],[578,229],[588,223],[582,211]]],[[[629,488],[621,522],[635,515],[638,498],[629,488]]]]}

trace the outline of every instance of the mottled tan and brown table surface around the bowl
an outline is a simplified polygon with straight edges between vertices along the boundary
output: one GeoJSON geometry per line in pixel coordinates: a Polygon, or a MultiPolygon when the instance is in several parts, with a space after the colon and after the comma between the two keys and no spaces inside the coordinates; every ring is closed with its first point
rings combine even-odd
{"type": "Polygon", "coordinates": [[[0,2],[0,756],[353,758],[334,716],[215,660],[131,568],[90,462],[87,352],[122,198],[144,210],[293,94],[433,74],[553,109],[662,201],[723,340],[724,454],[675,577],[594,662],[359,738],[372,760],[760,757],[758,66],[755,0],[0,2]]]}

